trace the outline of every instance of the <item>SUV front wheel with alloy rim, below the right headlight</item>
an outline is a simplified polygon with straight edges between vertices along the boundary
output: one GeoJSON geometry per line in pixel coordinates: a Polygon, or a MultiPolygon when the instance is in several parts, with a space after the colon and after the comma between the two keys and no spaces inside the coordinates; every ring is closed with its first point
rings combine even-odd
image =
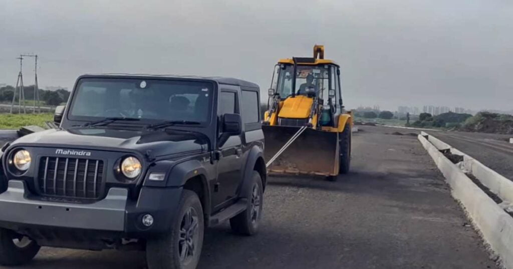
{"type": "Polygon", "coordinates": [[[196,268],[203,247],[204,229],[200,198],[194,191],[185,189],[169,232],[146,243],[148,269],[196,268]]]}

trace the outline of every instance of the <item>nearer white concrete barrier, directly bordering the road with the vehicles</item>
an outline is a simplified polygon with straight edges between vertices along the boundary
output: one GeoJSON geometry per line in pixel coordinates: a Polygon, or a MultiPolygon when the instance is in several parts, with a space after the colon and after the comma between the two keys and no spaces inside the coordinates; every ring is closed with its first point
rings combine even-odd
{"type": "Polygon", "coordinates": [[[513,269],[513,218],[422,134],[419,135],[419,141],[444,175],[451,187],[452,196],[461,202],[483,239],[499,256],[502,265],[507,269],[513,269]]]}

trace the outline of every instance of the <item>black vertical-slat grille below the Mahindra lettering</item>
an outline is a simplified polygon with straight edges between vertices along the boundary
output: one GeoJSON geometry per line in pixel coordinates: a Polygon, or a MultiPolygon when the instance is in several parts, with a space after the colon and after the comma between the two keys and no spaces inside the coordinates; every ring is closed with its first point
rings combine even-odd
{"type": "Polygon", "coordinates": [[[44,196],[98,199],[104,189],[103,161],[43,157],[38,189],[44,196]]]}

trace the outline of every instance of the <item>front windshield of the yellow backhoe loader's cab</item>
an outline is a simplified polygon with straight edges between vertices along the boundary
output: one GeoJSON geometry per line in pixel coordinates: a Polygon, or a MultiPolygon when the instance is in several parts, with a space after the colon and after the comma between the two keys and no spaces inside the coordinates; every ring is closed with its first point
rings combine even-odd
{"type": "MultiPolygon", "coordinates": [[[[285,65],[280,71],[277,92],[280,98],[286,98],[292,94],[293,65],[285,65]]],[[[295,94],[306,95],[307,89],[313,89],[318,96],[328,88],[329,69],[323,66],[298,65],[295,76],[295,94]]]]}

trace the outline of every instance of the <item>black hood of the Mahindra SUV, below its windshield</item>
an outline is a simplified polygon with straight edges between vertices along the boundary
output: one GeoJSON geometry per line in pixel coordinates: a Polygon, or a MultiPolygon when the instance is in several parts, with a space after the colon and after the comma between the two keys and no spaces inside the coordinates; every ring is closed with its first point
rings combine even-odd
{"type": "Polygon", "coordinates": [[[16,144],[69,149],[136,150],[142,154],[151,150],[154,157],[198,154],[208,149],[207,137],[199,133],[87,127],[35,132],[12,143],[16,144]]]}

